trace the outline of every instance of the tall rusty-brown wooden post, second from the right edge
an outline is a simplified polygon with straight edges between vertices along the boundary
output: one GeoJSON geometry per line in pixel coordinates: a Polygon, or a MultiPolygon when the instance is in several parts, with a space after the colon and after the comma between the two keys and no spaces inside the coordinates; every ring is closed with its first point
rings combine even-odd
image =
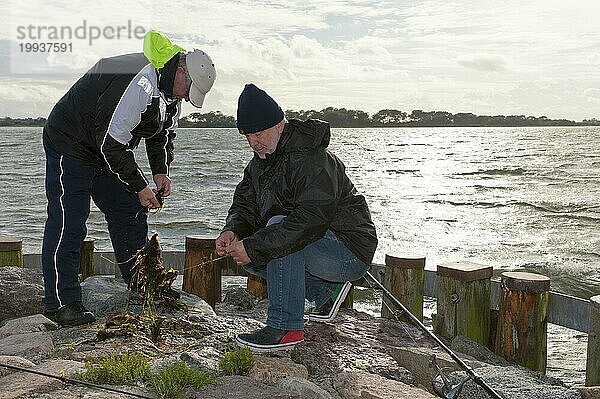
{"type": "Polygon", "coordinates": [[[546,373],[550,279],[534,273],[504,272],[501,289],[496,353],[546,373]]]}

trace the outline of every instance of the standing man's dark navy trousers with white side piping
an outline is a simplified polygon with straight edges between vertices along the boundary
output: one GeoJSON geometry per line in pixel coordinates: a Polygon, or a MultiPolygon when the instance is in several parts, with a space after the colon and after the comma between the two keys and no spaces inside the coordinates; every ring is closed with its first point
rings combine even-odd
{"type": "Polygon", "coordinates": [[[81,300],[80,248],[87,234],[90,198],[104,213],[110,240],[125,282],[133,274],[133,255],[147,241],[147,210],[137,194],[112,172],[65,157],[44,142],[48,219],[42,242],[44,305],[54,310],[81,300]]]}

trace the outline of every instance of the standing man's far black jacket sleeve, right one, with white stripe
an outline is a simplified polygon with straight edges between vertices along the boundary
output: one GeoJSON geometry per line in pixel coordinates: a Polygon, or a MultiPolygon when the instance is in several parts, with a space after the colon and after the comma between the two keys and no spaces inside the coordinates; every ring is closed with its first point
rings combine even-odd
{"type": "Polygon", "coordinates": [[[181,101],[168,104],[166,112],[166,121],[161,131],[145,141],[146,154],[153,175],[169,174],[169,167],[173,162],[173,140],[181,113],[181,101]]]}

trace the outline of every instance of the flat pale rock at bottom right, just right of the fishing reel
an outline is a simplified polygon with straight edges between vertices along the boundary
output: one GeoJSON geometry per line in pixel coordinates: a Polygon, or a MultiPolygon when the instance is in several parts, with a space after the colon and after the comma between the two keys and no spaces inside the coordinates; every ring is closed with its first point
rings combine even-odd
{"type": "MultiPolygon", "coordinates": [[[[552,385],[548,379],[536,375],[523,367],[486,366],[476,370],[477,374],[504,399],[580,399],[575,389],[552,385]]],[[[466,376],[464,371],[450,374],[454,382],[466,376]]],[[[472,380],[463,386],[461,399],[488,399],[488,394],[472,380]]]]}

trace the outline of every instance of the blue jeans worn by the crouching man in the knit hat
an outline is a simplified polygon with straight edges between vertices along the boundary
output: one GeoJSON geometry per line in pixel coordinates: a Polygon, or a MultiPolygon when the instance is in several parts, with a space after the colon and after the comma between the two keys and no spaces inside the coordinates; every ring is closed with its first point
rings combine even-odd
{"type": "MultiPolygon", "coordinates": [[[[267,225],[283,220],[272,217],[267,225]]],[[[248,273],[267,280],[267,325],[281,330],[304,329],[304,298],[323,305],[339,283],[361,278],[369,266],[358,259],[331,230],[300,251],[273,259],[266,267],[252,263],[248,273]]]]}

